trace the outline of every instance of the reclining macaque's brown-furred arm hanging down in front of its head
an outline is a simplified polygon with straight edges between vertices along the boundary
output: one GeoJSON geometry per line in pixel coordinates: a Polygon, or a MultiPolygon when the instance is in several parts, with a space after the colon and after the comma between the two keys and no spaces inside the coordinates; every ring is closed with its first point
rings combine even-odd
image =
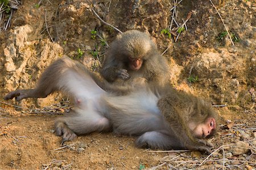
{"type": "MultiPolygon", "coordinates": [[[[158,107],[164,118],[167,120],[170,131],[174,133],[180,146],[185,146],[188,150],[199,150],[210,153],[210,148],[200,139],[195,138],[188,128],[188,122],[185,121],[183,114],[175,109],[172,101],[173,97],[165,97],[158,101],[158,107]]],[[[175,103],[176,104],[176,103],[175,103]]]]}

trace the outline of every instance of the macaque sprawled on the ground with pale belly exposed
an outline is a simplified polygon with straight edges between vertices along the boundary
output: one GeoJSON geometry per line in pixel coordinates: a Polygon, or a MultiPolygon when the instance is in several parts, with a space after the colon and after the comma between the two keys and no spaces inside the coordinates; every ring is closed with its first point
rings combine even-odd
{"type": "Polygon", "coordinates": [[[218,117],[212,107],[170,86],[141,83],[119,93],[119,88],[63,57],[46,69],[35,89],[18,89],[5,99],[47,97],[56,90],[68,93],[75,107],[55,122],[56,134],[64,141],[76,135],[114,131],[138,136],[138,147],[209,153],[210,144],[202,139],[213,135],[217,128],[218,117]]]}

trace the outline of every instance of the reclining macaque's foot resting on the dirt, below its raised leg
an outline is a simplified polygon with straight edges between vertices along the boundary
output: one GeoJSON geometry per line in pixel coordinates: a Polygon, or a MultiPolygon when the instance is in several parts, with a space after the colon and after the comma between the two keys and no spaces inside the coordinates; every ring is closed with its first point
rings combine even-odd
{"type": "Polygon", "coordinates": [[[57,136],[62,136],[63,142],[76,138],[76,134],[65,123],[60,121],[55,122],[55,132],[57,136]]]}

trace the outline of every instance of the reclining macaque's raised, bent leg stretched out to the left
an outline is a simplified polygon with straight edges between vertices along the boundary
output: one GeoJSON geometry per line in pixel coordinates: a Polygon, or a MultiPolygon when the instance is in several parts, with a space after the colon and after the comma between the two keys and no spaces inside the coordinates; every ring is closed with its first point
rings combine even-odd
{"type": "Polygon", "coordinates": [[[104,91],[96,84],[95,80],[100,82],[83,65],[68,57],[63,57],[49,65],[34,89],[18,89],[7,94],[4,99],[15,97],[16,101],[20,101],[23,98],[43,98],[56,90],[64,90],[77,99],[95,98],[98,93],[104,91]]]}

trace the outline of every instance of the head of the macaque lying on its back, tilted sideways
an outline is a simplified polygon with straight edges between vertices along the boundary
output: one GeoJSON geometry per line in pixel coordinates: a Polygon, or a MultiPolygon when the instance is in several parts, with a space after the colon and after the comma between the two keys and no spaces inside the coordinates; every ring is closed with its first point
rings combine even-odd
{"type": "Polygon", "coordinates": [[[203,99],[198,99],[195,105],[188,127],[196,138],[209,138],[218,129],[218,115],[203,99]]]}

